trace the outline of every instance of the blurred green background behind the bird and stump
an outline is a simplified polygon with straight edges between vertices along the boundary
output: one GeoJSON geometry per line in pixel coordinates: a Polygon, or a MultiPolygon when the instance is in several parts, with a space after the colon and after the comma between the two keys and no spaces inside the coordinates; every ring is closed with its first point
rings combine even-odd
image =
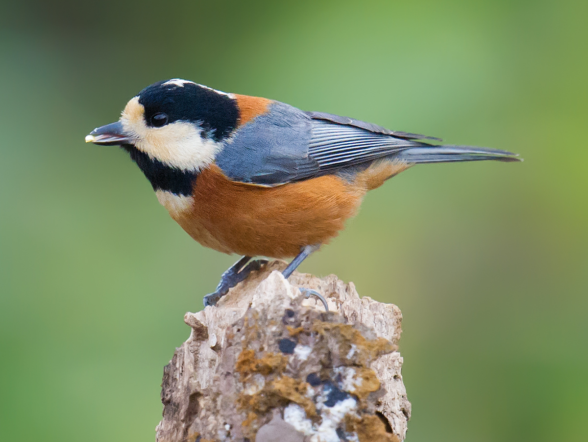
{"type": "Polygon", "coordinates": [[[519,152],[399,175],[301,270],[402,309],[407,441],[588,440],[587,23],[573,0],[3,0],[0,438],[154,439],[183,314],[236,257],[83,138],[181,77],[519,152]]]}

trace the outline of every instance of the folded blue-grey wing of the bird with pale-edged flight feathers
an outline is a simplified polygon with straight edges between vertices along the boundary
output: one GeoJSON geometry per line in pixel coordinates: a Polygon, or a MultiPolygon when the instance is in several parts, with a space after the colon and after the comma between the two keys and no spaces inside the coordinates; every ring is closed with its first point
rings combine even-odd
{"type": "Polygon", "coordinates": [[[275,186],[427,146],[422,138],[432,137],[273,102],[225,142],[216,164],[231,180],[275,186]]]}

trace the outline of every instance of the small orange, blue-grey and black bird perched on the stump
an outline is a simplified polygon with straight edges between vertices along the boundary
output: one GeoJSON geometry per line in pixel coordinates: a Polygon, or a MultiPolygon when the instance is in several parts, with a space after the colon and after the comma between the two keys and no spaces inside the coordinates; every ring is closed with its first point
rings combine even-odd
{"type": "Polygon", "coordinates": [[[255,256],[295,257],[283,271],[288,278],[342,230],[367,191],[415,164],[519,161],[511,152],[435,141],[177,78],[146,87],[117,122],[86,137],[128,151],[193,239],[243,255],[205,305],[259,268],[255,256]]]}

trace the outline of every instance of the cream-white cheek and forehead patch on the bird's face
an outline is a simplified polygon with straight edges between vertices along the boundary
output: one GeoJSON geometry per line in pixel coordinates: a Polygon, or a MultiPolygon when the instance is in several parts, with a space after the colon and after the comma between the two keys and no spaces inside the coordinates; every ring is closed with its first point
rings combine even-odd
{"type": "Polygon", "coordinates": [[[201,137],[202,129],[188,121],[175,121],[162,127],[148,127],[145,108],[134,97],[122,111],[125,132],[136,137],[135,147],[163,164],[185,171],[199,171],[212,164],[222,144],[201,137]]]}

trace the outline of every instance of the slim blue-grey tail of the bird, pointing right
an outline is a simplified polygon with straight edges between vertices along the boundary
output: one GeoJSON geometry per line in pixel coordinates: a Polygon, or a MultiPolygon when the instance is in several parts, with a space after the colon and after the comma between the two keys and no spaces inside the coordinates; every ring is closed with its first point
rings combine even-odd
{"type": "Polygon", "coordinates": [[[474,146],[417,146],[398,152],[396,158],[413,164],[427,162],[480,161],[523,161],[519,154],[474,146]]]}

